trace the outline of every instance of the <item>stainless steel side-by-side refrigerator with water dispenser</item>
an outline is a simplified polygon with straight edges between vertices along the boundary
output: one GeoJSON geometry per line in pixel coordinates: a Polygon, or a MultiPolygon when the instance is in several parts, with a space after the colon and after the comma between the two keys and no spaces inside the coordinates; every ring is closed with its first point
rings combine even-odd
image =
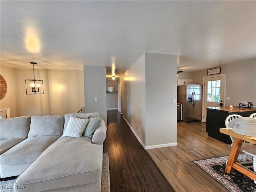
{"type": "Polygon", "coordinates": [[[182,121],[202,120],[202,85],[178,86],[178,103],[183,104],[182,121]]]}

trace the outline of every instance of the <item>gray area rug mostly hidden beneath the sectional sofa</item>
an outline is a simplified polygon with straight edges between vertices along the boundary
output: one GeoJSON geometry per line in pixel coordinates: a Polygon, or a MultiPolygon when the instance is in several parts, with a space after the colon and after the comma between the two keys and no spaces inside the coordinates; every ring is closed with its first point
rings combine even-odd
{"type": "MultiPolygon", "coordinates": [[[[0,192],[13,192],[15,180],[1,181],[0,192]]],[[[108,152],[103,154],[101,192],[110,192],[108,152]]]]}

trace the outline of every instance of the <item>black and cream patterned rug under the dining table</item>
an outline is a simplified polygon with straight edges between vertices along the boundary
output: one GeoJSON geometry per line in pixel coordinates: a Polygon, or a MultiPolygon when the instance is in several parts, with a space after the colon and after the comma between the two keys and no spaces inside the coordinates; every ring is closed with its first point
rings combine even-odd
{"type": "MultiPolygon", "coordinates": [[[[242,162],[244,154],[239,154],[237,162],[242,162]]],[[[254,180],[237,170],[233,174],[225,172],[228,156],[193,161],[202,170],[217,180],[230,192],[256,192],[254,180]]]]}

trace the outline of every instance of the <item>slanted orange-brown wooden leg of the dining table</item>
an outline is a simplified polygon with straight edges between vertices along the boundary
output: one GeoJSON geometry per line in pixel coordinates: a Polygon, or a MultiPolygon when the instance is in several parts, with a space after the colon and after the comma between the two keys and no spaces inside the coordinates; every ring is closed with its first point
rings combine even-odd
{"type": "Polygon", "coordinates": [[[234,139],[235,140],[234,140],[234,143],[232,145],[232,148],[231,148],[231,151],[230,151],[230,154],[229,154],[229,157],[228,157],[228,162],[227,162],[227,165],[226,165],[226,168],[225,168],[225,171],[228,174],[231,174],[234,171],[234,168],[232,168],[232,166],[233,166],[233,163],[236,163],[238,154],[240,152],[240,148],[241,148],[242,143],[243,143],[243,140],[240,140],[238,138],[234,138],[234,139]]]}

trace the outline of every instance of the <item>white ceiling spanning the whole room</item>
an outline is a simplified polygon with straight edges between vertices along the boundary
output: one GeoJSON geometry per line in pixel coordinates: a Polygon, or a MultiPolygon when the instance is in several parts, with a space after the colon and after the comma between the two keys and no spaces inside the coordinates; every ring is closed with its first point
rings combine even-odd
{"type": "MultiPolygon", "coordinates": [[[[118,74],[144,52],[178,55],[178,70],[256,56],[256,1],[4,1],[1,64],[118,74]],[[35,37],[36,50],[26,47],[35,37]],[[28,38],[28,39],[26,39],[28,38]]],[[[31,45],[31,43],[30,43],[31,45]]]]}

